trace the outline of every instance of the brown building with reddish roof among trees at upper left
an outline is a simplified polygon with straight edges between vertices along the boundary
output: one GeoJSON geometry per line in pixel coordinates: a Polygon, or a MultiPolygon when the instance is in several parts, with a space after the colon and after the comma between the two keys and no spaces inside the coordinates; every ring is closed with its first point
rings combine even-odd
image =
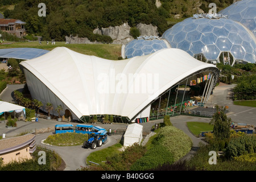
{"type": "Polygon", "coordinates": [[[26,29],[24,27],[25,22],[19,19],[0,19],[0,30],[7,32],[8,34],[15,35],[18,38],[22,38],[26,35],[26,29]]]}

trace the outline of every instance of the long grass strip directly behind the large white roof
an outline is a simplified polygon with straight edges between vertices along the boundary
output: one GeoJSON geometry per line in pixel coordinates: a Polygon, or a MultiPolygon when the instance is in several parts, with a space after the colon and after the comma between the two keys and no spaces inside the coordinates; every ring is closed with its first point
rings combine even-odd
{"type": "Polygon", "coordinates": [[[93,55],[109,60],[118,60],[121,56],[121,44],[65,44],[65,42],[56,42],[52,45],[51,42],[47,45],[46,42],[39,44],[35,42],[5,42],[11,44],[1,44],[1,49],[7,48],[39,48],[51,51],[56,47],[67,47],[73,51],[83,53],[85,55],[93,55]]]}

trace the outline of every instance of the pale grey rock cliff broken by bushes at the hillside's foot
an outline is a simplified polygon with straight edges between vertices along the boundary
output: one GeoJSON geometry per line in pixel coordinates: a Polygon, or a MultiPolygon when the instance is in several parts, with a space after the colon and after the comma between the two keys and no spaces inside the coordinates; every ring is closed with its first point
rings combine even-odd
{"type": "MultiPolygon", "coordinates": [[[[96,28],[94,34],[108,35],[113,39],[113,44],[127,44],[131,40],[134,40],[133,36],[130,35],[130,26],[128,23],[123,23],[121,26],[108,27],[108,28],[96,28]]],[[[137,25],[141,35],[158,35],[156,26],[152,24],[139,23],[137,25]]],[[[90,42],[87,38],[79,38],[78,36],[66,36],[66,42],[70,44],[93,44],[98,42],[90,42]]]]}

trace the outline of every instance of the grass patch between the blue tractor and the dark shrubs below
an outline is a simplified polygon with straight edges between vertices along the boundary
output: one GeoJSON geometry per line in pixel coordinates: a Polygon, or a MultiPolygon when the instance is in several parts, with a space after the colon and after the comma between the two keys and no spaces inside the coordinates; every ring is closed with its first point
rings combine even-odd
{"type": "MultiPolygon", "coordinates": [[[[112,156],[114,154],[117,154],[121,151],[119,149],[122,148],[121,143],[114,144],[113,146],[110,146],[108,148],[104,148],[102,150],[92,152],[87,158],[86,158],[86,163],[90,165],[89,161],[92,161],[94,163],[102,164],[106,161],[106,157],[112,156]]],[[[85,149],[86,150],[86,149],[85,149]]]]}

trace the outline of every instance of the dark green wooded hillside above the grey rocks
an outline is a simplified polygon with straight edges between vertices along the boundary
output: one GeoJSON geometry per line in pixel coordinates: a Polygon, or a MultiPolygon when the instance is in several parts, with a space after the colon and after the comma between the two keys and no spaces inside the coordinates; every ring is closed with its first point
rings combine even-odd
{"type": "Polygon", "coordinates": [[[155,0],[45,0],[46,16],[40,17],[39,0],[4,0],[0,2],[0,11],[5,18],[26,22],[28,34],[41,35],[44,40],[55,38],[55,41],[64,41],[66,35],[92,36],[94,28],[119,26],[125,22],[131,27],[138,23],[151,23],[158,27],[161,36],[173,24],[200,13],[200,9],[208,12],[209,3],[216,3],[219,11],[233,3],[233,0],[160,2],[161,6],[156,7],[155,0]],[[175,19],[175,15],[179,15],[179,19],[175,19]]]}

